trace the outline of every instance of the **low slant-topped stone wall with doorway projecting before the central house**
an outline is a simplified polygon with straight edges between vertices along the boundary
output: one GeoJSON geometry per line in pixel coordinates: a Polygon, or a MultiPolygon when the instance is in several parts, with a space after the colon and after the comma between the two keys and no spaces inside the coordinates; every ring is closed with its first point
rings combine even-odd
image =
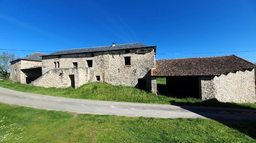
{"type": "Polygon", "coordinates": [[[45,88],[67,88],[71,86],[69,75],[74,75],[75,88],[87,83],[89,80],[89,72],[86,68],[55,68],[44,73],[41,77],[32,81],[31,84],[45,88]]]}

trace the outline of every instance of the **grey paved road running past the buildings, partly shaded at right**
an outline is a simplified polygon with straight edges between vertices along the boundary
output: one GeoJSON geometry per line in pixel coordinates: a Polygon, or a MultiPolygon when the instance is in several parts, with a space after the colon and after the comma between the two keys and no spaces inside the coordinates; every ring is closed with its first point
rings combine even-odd
{"type": "Polygon", "coordinates": [[[256,110],[72,99],[17,92],[5,88],[0,88],[0,102],[76,113],[161,118],[212,118],[224,121],[256,121],[256,110]]]}

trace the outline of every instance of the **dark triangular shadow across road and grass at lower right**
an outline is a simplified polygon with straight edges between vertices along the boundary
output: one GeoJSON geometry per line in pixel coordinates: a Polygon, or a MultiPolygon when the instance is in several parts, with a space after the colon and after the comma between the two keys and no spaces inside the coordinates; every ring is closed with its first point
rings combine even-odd
{"type": "Polygon", "coordinates": [[[250,110],[246,106],[240,106],[236,103],[223,103],[217,99],[205,100],[202,102],[188,103],[170,101],[170,104],[180,106],[181,108],[199,114],[201,116],[213,119],[230,128],[236,129],[254,139],[256,139],[256,110],[250,110]],[[194,105],[194,106],[188,106],[194,105]],[[200,107],[198,107],[200,106],[200,107]],[[205,107],[208,106],[208,107],[205,107]],[[209,107],[219,107],[209,108],[209,107]],[[221,108],[229,107],[229,108],[221,108]],[[231,107],[231,108],[230,108],[231,107]],[[234,108],[247,109],[234,109],[234,108]],[[219,116],[216,116],[219,115],[219,116]]]}

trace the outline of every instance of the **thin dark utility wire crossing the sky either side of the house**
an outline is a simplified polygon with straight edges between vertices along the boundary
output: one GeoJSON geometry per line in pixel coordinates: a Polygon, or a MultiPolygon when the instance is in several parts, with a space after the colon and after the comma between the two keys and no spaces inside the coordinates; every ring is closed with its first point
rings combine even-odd
{"type": "MultiPolygon", "coordinates": [[[[11,50],[11,51],[30,51],[30,52],[53,52],[53,51],[34,51],[34,50],[15,50],[15,49],[0,49],[0,50],[11,50]]],[[[232,51],[232,52],[206,52],[206,53],[156,53],[156,54],[210,54],[210,53],[239,53],[239,52],[255,52],[256,50],[251,51],[232,51]]],[[[74,53],[74,52],[61,52],[58,53],[74,53]]]]}

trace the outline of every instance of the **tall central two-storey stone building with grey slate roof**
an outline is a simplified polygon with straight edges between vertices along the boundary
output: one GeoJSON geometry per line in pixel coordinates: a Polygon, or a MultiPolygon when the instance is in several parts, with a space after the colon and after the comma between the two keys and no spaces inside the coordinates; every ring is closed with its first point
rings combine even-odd
{"type": "Polygon", "coordinates": [[[78,88],[99,81],[151,90],[156,84],[150,73],[155,53],[156,46],[140,43],[59,50],[42,55],[42,76],[31,84],[78,88]]]}

